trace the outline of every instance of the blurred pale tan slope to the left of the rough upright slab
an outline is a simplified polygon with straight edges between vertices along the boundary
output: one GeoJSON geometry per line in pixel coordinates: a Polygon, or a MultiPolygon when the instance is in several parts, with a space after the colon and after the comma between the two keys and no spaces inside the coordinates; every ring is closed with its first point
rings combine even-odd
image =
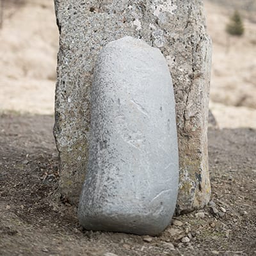
{"type": "Polygon", "coordinates": [[[6,5],[0,45],[0,109],[52,114],[58,51],[53,1],[6,5]]]}

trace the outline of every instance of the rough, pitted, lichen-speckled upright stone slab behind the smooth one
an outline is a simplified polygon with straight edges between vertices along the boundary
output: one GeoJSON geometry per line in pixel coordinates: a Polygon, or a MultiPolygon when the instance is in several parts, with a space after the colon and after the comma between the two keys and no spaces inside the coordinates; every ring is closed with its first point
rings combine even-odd
{"type": "Polygon", "coordinates": [[[180,184],[178,212],[209,202],[207,116],[211,40],[202,1],[55,0],[60,29],[56,122],[61,193],[78,202],[86,163],[90,87],[100,49],[124,36],[142,38],[163,52],[176,101],[180,184]]]}

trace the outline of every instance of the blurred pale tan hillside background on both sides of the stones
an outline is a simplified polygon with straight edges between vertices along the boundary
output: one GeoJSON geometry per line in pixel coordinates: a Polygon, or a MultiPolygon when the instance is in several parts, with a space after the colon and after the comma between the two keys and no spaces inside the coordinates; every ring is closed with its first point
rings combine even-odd
{"type": "MultiPolygon", "coordinates": [[[[0,111],[54,113],[53,0],[0,0],[0,111]]],[[[220,128],[256,128],[256,0],[205,0],[210,108],[220,128]],[[235,12],[235,11],[238,12],[235,12]]]]}

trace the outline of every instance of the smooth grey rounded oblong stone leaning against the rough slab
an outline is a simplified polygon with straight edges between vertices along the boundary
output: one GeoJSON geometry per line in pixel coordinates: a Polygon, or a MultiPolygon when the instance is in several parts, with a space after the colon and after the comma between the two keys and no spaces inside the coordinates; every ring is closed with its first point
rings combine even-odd
{"type": "Polygon", "coordinates": [[[159,234],[172,219],[179,184],[175,100],[161,51],[131,36],[106,45],[91,102],[81,225],[159,234]]]}

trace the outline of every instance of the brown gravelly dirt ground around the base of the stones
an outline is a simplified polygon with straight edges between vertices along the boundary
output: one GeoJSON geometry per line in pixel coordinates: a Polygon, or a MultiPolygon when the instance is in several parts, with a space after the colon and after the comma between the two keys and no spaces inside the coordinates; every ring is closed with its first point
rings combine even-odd
{"type": "Polygon", "coordinates": [[[0,255],[256,255],[256,130],[210,129],[211,205],[141,237],[79,227],[56,191],[53,122],[0,116],[0,255]]]}

